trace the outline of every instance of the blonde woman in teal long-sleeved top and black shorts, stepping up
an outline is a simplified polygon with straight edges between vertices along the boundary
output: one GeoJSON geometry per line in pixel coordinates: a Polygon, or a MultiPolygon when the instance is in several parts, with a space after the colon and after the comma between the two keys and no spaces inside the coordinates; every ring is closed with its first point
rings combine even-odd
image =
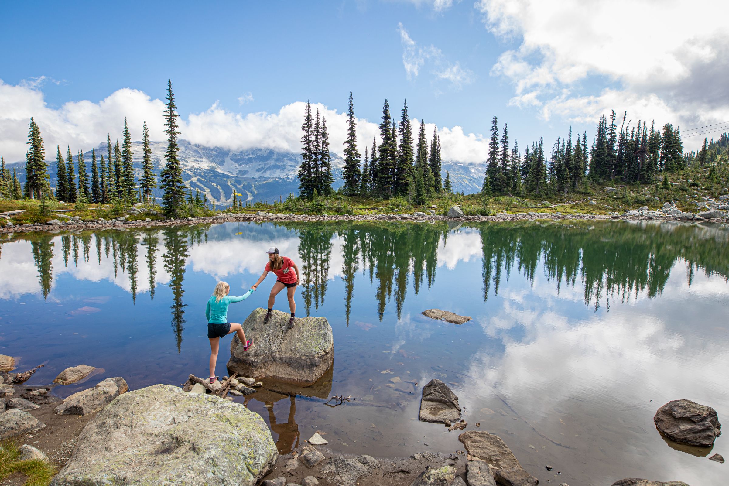
{"type": "Polygon", "coordinates": [[[208,339],[210,340],[210,383],[215,383],[218,379],[215,376],[215,364],[218,361],[218,348],[220,338],[227,336],[231,332],[238,334],[238,339],[245,342],[243,350],[247,351],[251,347],[252,342],[246,341],[246,334],[243,332],[241,324],[227,321],[227,307],[232,302],[241,302],[253,294],[255,289],[247,291],[241,297],[231,297],[230,286],[226,282],[218,282],[212,297],[208,299],[208,305],[205,309],[205,316],[208,318],[208,339]]]}

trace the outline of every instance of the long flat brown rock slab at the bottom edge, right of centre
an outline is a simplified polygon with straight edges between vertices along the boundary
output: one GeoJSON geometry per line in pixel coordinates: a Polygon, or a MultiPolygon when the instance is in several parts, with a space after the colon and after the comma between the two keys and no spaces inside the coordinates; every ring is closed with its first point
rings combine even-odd
{"type": "MultiPolygon", "coordinates": [[[[484,460],[499,485],[536,486],[539,480],[526,472],[499,436],[486,431],[468,431],[459,435],[469,455],[484,460]]],[[[483,473],[482,473],[483,474],[483,473]]],[[[488,484],[488,483],[486,483],[488,484]]]]}

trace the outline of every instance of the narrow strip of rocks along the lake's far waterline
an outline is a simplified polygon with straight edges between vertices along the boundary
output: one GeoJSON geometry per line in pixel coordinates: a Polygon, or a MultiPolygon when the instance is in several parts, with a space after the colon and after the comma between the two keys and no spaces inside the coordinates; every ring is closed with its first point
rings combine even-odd
{"type": "MultiPolygon", "coordinates": [[[[536,209],[536,208],[535,208],[536,209]]],[[[165,219],[164,221],[128,221],[123,216],[117,219],[105,221],[85,222],[81,220],[58,222],[56,224],[16,224],[15,226],[6,226],[0,228],[0,234],[12,232],[34,232],[43,231],[58,233],[61,231],[78,231],[78,230],[124,230],[128,228],[139,227],[155,227],[155,226],[176,226],[190,224],[218,224],[224,222],[321,222],[321,221],[407,221],[407,222],[504,222],[504,221],[529,221],[535,219],[573,219],[601,221],[609,219],[626,219],[633,221],[677,221],[677,222],[729,222],[729,217],[712,217],[720,216],[721,211],[706,211],[703,217],[702,213],[682,213],[673,214],[675,211],[648,211],[639,208],[635,211],[625,213],[612,214],[562,214],[555,213],[537,213],[531,211],[529,213],[496,213],[491,216],[463,216],[449,217],[420,214],[373,214],[373,215],[306,215],[306,214],[278,214],[278,213],[259,213],[255,214],[225,214],[219,213],[216,216],[205,216],[200,218],[183,218],[183,219],[165,219]]],[[[58,221],[58,220],[52,220],[58,221]]],[[[50,222],[49,222],[50,223],[50,222]]]]}

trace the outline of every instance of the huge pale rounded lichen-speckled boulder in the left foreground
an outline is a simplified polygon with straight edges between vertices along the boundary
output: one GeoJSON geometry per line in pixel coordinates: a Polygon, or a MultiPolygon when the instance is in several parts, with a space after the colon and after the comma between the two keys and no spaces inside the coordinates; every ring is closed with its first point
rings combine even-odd
{"type": "Polygon", "coordinates": [[[99,412],[51,486],[253,486],[277,458],[268,426],[243,404],[152,385],[99,412]]]}

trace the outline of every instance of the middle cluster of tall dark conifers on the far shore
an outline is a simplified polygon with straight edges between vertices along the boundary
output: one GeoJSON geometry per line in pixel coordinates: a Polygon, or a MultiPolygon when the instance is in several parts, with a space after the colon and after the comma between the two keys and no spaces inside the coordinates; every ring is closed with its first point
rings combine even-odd
{"type": "MultiPolygon", "coordinates": [[[[316,119],[311,115],[311,103],[306,103],[303,136],[302,162],[299,168],[299,195],[311,199],[317,195],[332,194],[332,165],[329,152],[329,135],[326,122],[319,110],[316,119]]],[[[342,192],[349,196],[408,197],[417,204],[443,191],[440,180],[440,138],[437,130],[430,143],[425,133],[425,122],[421,120],[418,130],[416,151],[413,152],[413,127],[408,116],[408,102],[402,106],[399,122],[390,113],[389,102],[382,107],[380,123],[381,143],[373,139],[372,149],[364,149],[364,160],[357,148],[356,121],[352,93],[349,93],[347,111],[347,138],[344,141],[344,185],[342,192]]],[[[450,177],[448,187],[450,189],[450,177]]]]}

